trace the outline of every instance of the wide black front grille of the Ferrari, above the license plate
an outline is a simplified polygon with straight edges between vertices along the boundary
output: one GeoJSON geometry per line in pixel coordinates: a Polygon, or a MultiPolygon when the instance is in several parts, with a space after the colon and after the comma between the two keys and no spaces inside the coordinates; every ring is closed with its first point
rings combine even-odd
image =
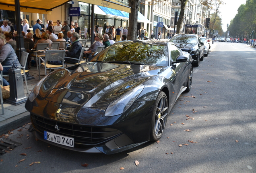
{"type": "Polygon", "coordinates": [[[42,134],[44,131],[48,131],[67,137],[73,137],[76,144],[83,145],[97,145],[122,133],[116,129],[88,127],[85,125],[65,123],[46,119],[33,114],[31,114],[31,120],[35,129],[42,134]],[[55,125],[58,125],[60,129],[59,132],[56,131],[55,125]]]}

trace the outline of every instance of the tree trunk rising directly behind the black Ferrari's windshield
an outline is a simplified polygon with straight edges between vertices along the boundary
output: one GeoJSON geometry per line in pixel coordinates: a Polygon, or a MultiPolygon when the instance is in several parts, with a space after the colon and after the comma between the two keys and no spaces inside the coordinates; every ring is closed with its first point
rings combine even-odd
{"type": "Polygon", "coordinates": [[[137,39],[137,22],[138,22],[138,0],[129,0],[129,6],[131,7],[131,13],[129,13],[129,29],[128,40],[137,39]]]}

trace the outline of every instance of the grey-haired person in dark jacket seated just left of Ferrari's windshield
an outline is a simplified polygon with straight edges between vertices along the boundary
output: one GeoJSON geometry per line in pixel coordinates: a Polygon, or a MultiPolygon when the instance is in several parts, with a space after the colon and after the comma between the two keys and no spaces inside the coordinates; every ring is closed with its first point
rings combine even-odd
{"type": "MultiPolygon", "coordinates": [[[[70,47],[70,50],[66,50],[66,56],[70,58],[76,58],[77,60],[70,59],[70,58],[65,58],[65,62],[70,63],[70,64],[75,64],[78,63],[78,60],[80,58],[80,53],[82,49],[82,45],[79,42],[79,34],[77,32],[73,32],[71,34],[72,39],[72,46],[70,47]]],[[[61,65],[62,61],[49,61],[48,64],[54,64],[54,65],[61,65]]]]}

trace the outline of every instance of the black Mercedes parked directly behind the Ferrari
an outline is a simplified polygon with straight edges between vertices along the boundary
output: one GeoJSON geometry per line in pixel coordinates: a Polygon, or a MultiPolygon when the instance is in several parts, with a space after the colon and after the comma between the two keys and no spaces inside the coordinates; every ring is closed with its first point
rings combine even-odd
{"type": "Polygon", "coordinates": [[[204,43],[198,35],[175,34],[170,42],[175,43],[181,50],[188,52],[194,60],[194,66],[199,66],[200,60],[204,60],[204,43]]]}

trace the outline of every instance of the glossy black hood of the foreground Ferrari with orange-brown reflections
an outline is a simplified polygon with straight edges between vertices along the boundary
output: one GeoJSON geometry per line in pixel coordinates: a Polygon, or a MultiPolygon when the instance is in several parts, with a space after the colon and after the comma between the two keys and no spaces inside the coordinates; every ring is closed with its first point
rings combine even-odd
{"type": "Polygon", "coordinates": [[[161,72],[162,66],[88,62],[46,76],[39,96],[54,103],[107,106],[124,93],[161,72]]]}

